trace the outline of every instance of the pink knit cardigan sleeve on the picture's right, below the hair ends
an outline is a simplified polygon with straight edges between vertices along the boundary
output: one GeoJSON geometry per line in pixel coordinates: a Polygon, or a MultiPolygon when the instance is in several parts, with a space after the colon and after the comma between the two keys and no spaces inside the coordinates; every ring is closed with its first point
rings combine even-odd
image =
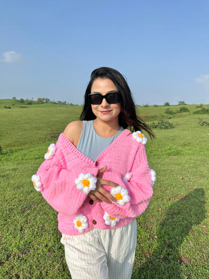
{"type": "MultiPolygon", "coordinates": [[[[123,203],[113,203],[111,205],[102,202],[101,206],[108,214],[115,218],[137,217],[147,208],[153,194],[152,175],[147,162],[147,156],[144,145],[140,144],[136,153],[133,165],[127,178],[119,172],[110,172],[109,177],[105,179],[112,180],[120,186],[111,189],[111,193],[118,193],[118,198],[124,199],[123,203]],[[126,190],[125,190],[125,189],[126,190]],[[113,191],[113,192],[112,192],[113,191]],[[122,197],[123,196],[123,197],[122,197]]],[[[104,186],[105,189],[109,189],[104,186]]],[[[120,200],[119,200],[120,202],[120,200]]]]}

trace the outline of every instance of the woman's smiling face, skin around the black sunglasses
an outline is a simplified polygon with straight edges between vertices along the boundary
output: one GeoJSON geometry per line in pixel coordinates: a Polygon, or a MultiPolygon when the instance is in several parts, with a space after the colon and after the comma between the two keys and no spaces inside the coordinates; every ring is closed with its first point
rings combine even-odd
{"type": "MultiPolygon", "coordinates": [[[[98,77],[91,86],[91,94],[106,95],[110,92],[119,92],[115,83],[110,78],[98,77]]],[[[91,105],[92,112],[102,122],[117,122],[121,112],[121,103],[109,104],[103,99],[100,105],[91,105]]]]}

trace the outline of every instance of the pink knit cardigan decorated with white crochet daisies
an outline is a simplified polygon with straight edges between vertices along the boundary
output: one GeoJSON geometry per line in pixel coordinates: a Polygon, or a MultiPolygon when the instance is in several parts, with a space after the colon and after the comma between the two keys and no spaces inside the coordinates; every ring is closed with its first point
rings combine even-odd
{"type": "Polygon", "coordinates": [[[144,144],[127,129],[95,162],[80,153],[64,134],[60,134],[56,145],[50,145],[45,158],[32,181],[36,190],[58,211],[59,230],[64,234],[79,235],[93,228],[127,225],[144,212],[152,197],[152,172],[144,144]],[[117,203],[94,202],[86,194],[90,187],[95,189],[94,177],[106,165],[102,178],[120,186],[102,187],[117,198],[117,203]]]}

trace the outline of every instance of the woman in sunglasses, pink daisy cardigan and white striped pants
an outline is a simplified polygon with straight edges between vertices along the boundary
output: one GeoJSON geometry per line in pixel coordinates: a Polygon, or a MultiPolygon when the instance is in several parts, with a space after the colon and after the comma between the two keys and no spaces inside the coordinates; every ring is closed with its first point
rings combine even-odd
{"type": "Polygon", "coordinates": [[[80,119],[49,146],[32,181],[59,212],[72,278],[130,278],[135,218],[147,208],[155,180],[141,130],[154,134],[136,115],[123,75],[108,67],[91,73],[80,119]]]}

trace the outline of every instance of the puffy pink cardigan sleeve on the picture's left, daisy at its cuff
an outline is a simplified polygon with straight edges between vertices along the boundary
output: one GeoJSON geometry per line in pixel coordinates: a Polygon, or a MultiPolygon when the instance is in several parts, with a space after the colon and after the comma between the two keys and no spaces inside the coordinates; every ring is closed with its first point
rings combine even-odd
{"type": "MultiPolygon", "coordinates": [[[[87,188],[90,191],[92,187],[95,187],[97,172],[98,168],[95,165],[92,167],[76,165],[66,168],[65,157],[61,148],[58,147],[53,157],[46,159],[39,167],[37,174],[33,176],[39,182],[37,190],[41,191],[44,199],[56,211],[73,216],[82,206],[88,194],[87,188]]],[[[32,181],[34,179],[32,178],[32,181]]]]}

